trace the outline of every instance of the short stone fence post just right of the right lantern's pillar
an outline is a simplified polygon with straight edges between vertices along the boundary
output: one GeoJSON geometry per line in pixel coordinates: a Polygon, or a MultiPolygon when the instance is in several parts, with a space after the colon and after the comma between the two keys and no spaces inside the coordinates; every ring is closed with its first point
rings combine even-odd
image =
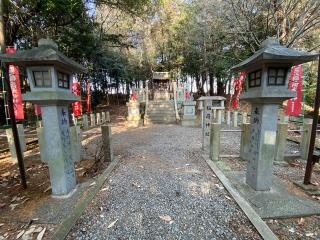
{"type": "Polygon", "coordinates": [[[287,146],[288,136],[288,123],[278,123],[277,127],[277,140],[276,140],[276,151],[274,160],[277,162],[284,162],[284,152],[287,146]]]}

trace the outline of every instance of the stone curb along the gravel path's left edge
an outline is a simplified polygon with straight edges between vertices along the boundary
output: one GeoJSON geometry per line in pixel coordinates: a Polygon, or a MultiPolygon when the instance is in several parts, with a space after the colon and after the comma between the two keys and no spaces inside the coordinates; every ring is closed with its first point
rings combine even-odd
{"type": "Polygon", "coordinates": [[[95,179],[96,184],[88,191],[87,196],[83,197],[76,203],[76,206],[69,217],[60,222],[51,239],[61,240],[67,237],[76,221],[80,218],[88,204],[96,196],[102,185],[105,183],[107,178],[110,177],[111,173],[119,163],[120,160],[117,157],[113,157],[113,161],[110,162],[109,166],[95,179]]]}

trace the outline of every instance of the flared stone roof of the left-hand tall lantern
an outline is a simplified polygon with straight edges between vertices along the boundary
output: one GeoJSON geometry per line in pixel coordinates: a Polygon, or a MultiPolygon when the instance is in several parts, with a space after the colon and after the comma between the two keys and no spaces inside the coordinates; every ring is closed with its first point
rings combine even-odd
{"type": "Polygon", "coordinates": [[[0,54],[0,60],[18,66],[54,65],[70,72],[85,73],[87,69],[58,50],[51,39],[40,39],[38,47],[19,50],[12,54],[0,54]]]}

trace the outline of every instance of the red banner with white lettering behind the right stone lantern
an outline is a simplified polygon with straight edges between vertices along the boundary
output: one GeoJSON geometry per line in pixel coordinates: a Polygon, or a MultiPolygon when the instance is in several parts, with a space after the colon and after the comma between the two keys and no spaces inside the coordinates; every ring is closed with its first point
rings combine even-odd
{"type": "Polygon", "coordinates": [[[296,92],[296,97],[288,100],[287,116],[299,116],[301,114],[302,87],[302,64],[300,64],[291,68],[289,89],[296,92]]]}

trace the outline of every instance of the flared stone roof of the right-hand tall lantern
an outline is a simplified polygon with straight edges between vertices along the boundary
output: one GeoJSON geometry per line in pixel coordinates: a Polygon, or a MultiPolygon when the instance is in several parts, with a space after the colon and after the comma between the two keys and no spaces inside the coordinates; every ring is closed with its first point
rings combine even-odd
{"type": "Polygon", "coordinates": [[[316,60],[318,56],[318,53],[308,53],[282,46],[276,38],[267,38],[262,42],[258,51],[231,69],[234,71],[247,70],[253,65],[261,65],[262,63],[289,63],[296,65],[316,60]]]}

